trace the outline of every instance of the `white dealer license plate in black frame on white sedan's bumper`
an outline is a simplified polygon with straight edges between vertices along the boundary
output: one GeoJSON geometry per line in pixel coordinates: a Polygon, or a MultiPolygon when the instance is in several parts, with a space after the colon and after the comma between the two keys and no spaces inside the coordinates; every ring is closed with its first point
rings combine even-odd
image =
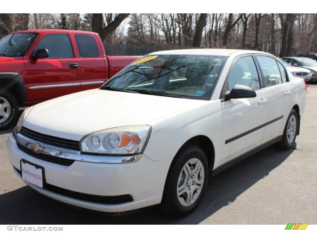
{"type": "Polygon", "coordinates": [[[43,169],[40,166],[30,164],[23,159],[21,160],[21,175],[25,181],[43,188],[43,169]]]}

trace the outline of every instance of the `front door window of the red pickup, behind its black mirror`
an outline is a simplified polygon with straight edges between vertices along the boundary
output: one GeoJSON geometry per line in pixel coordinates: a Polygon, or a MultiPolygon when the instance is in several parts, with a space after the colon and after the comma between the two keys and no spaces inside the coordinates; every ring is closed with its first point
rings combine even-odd
{"type": "Polygon", "coordinates": [[[36,48],[47,49],[49,58],[74,58],[72,44],[67,34],[46,35],[36,48]]]}

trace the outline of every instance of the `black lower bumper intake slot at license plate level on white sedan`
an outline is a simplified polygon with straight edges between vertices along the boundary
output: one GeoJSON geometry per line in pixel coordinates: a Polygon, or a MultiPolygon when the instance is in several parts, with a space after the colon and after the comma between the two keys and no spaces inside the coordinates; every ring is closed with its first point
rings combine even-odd
{"type": "MultiPolygon", "coordinates": [[[[21,174],[21,171],[13,166],[13,168],[21,174]]],[[[86,193],[74,192],[68,189],[56,187],[51,184],[46,184],[44,189],[51,191],[53,193],[57,193],[59,195],[65,195],[68,197],[72,197],[78,200],[86,201],[86,202],[97,202],[102,204],[120,204],[125,202],[133,202],[133,198],[131,195],[118,195],[118,196],[99,196],[99,195],[91,195],[86,193]]]]}

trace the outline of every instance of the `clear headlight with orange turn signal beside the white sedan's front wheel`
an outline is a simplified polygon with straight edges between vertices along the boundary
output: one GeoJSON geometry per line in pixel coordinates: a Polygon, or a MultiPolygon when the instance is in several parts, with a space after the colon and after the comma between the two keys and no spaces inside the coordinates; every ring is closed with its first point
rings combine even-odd
{"type": "Polygon", "coordinates": [[[133,155],[143,151],[150,126],[125,126],[91,133],[80,141],[82,152],[133,155]]]}

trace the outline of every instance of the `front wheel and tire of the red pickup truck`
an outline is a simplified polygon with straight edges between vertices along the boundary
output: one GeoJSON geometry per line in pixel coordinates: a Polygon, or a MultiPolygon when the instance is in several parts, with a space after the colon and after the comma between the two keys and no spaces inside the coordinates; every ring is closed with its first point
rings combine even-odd
{"type": "Polygon", "coordinates": [[[0,88],[0,130],[7,129],[19,114],[16,97],[7,89],[0,88]]]}

